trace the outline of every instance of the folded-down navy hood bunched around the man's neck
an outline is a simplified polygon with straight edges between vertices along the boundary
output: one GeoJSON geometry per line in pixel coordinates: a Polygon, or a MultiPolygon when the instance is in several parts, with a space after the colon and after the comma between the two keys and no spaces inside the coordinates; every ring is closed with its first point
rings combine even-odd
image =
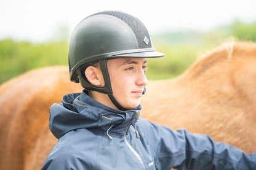
{"type": "Polygon", "coordinates": [[[140,114],[140,109],[141,106],[126,111],[112,109],[90,98],[84,91],[67,94],[63,96],[62,103],[50,106],[49,128],[57,139],[80,128],[106,131],[113,126],[112,133],[124,134],[134,115],[140,114]]]}

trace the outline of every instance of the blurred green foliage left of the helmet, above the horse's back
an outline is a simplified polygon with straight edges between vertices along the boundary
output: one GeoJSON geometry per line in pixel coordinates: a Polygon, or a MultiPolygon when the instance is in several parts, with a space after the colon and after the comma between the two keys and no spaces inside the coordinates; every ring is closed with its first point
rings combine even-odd
{"type": "Polygon", "coordinates": [[[0,83],[34,68],[68,64],[68,43],[0,41],[0,83]]]}

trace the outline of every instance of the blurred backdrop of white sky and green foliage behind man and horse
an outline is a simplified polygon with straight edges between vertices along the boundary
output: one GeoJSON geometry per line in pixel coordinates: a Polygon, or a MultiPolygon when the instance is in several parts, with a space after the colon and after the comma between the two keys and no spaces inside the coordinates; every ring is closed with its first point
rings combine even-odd
{"type": "Polygon", "coordinates": [[[256,41],[255,0],[0,0],[0,84],[35,68],[68,66],[74,27],[88,15],[120,10],[139,18],[164,58],[148,60],[149,80],[182,74],[229,41],[256,41]]]}

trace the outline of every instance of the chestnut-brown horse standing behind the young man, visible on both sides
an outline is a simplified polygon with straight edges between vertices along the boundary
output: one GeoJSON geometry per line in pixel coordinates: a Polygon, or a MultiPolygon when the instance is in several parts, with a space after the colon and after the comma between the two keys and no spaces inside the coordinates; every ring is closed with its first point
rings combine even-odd
{"type": "MultiPolygon", "coordinates": [[[[256,152],[256,44],[222,45],[171,80],[150,81],[142,117],[174,129],[209,134],[256,152]]],[[[0,169],[40,169],[57,139],[49,107],[81,92],[68,68],[36,69],[0,87],[0,169]]]]}

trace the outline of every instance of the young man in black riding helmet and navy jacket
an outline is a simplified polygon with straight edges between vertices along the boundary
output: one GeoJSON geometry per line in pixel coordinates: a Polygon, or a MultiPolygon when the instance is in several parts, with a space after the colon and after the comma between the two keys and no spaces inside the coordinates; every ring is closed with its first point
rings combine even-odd
{"type": "Polygon", "coordinates": [[[123,12],[90,15],[70,41],[70,79],[82,93],[50,107],[57,144],[41,169],[255,169],[256,155],[140,116],[146,58],[160,57],[145,26],[123,12]]]}

